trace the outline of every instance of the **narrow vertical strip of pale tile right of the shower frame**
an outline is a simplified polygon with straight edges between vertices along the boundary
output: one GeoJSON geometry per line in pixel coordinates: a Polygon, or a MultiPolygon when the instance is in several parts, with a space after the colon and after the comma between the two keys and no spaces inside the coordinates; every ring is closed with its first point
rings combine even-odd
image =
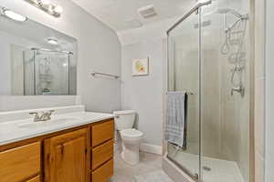
{"type": "Polygon", "coordinates": [[[265,1],[254,0],[255,41],[255,182],[265,171],[265,1]]]}

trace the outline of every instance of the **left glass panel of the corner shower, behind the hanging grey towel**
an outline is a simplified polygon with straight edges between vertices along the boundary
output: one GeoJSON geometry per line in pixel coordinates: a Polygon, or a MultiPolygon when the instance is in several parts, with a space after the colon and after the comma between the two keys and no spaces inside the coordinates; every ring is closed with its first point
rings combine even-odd
{"type": "MultiPolygon", "coordinates": [[[[195,12],[196,13],[196,12],[195,12]]],[[[186,149],[168,144],[168,157],[189,176],[199,174],[199,15],[193,13],[168,34],[168,90],[188,94],[186,149]]]]}

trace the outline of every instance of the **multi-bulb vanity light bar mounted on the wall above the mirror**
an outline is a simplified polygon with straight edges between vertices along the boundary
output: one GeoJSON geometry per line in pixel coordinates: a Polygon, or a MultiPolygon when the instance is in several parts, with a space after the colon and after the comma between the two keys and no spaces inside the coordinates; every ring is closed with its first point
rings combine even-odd
{"type": "Polygon", "coordinates": [[[59,17],[63,12],[63,8],[60,5],[54,5],[49,0],[25,0],[27,3],[36,6],[49,15],[59,17]]]}

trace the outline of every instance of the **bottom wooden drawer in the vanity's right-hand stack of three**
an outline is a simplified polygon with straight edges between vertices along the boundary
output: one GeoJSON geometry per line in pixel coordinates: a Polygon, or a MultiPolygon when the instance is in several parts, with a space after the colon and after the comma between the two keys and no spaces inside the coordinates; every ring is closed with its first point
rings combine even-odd
{"type": "Polygon", "coordinates": [[[113,159],[92,172],[92,182],[106,182],[113,175],[113,159]]]}

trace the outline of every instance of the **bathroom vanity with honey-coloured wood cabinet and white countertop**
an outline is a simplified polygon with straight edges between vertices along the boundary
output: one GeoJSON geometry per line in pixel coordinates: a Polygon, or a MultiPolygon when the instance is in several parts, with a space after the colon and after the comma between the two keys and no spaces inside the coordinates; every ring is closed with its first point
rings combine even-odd
{"type": "Polygon", "coordinates": [[[112,115],[81,111],[53,116],[47,126],[31,122],[0,116],[1,182],[104,182],[113,175],[112,115]]]}

